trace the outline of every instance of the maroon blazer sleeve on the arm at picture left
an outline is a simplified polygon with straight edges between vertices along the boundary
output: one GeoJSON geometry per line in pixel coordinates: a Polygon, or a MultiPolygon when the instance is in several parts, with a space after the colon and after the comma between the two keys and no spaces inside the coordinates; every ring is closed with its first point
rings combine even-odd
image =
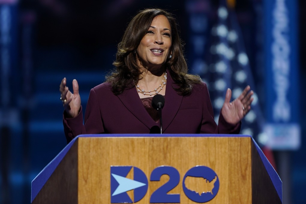
{"type": "Polygon", "coordinates": [[[99,101],[94,89],[91,89],[89,93],[84,125],[82,107],[79,115],[75,118],[68,118],[67,113],[64,111],[63,124],[67,143],[69,143],[77,135],[104,133],[99,101]]]}

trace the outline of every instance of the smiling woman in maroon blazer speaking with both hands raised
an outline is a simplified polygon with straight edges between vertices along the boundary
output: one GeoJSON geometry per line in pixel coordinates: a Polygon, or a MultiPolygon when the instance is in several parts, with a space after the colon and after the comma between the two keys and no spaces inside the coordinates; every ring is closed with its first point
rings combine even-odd
{"type": "Polygon", "coordinates": [[[129,23],[118,45],[116,70],[90,91],[83,125],[78,83],[73,94],[60,85],[64,130],[69,142],[79,134],[149,133],[159,121],[152,97],[165,96],[163,133],[236,133],[250,110],[253,91],[246,87],[230,102],[226,92],[218,126],[207,86],[187,74],[176,21],[161,9],[140,11],[129,23]]]}

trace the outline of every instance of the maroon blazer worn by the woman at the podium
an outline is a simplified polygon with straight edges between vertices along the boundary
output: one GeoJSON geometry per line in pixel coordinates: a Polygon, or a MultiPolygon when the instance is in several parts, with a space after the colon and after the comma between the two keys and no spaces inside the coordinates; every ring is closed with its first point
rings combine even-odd
{"type": "MultiPolygon", "coordinates": [[[[178,95],[177,85],[170,74],[167,77],[165,106],[162,109],[163,133],[222,133],[239,134],[241,123],[227,123],[220,114],[218,126],[205,83],[196,84],[192,93],[178,95]]],[[[83,125],[82,109],[76,118],[66,118],[64,131],[69,142],[80,134],[100,133],[149,133],[158,125],[142,104],[136,88],[114,95],[109,83],[91,89],[83,125]]]]}

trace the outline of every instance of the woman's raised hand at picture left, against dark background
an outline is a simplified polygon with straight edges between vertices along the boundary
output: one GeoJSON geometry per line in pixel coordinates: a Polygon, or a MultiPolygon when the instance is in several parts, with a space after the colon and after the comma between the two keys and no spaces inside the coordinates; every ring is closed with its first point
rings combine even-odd
{"type": "Polygon", "coordinates": [[[66,86],[67,80],[66,77],[62,80],[61,85],[59,86],[59,91],[61,92],[61,100],[65,108],[66,113],[69,117],[76,117],[79,114],[81,108],[81,97],[79,94],[79,85],[74,79],[72,81],[73,93],[69,91],[69,88],[66,86]]]}

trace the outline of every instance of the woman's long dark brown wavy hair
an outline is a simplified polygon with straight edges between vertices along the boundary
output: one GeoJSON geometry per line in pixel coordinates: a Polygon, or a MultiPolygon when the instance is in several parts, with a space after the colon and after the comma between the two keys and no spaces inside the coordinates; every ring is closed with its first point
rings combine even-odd
{"type": "Polygon", "coordinates": [[[201,82],[199,76],[187,74],[188,68],[183,54],[183,43],[179,37],[177,23],[172,14],[162,9],[145,9],[130,21],[122,41],[118,44],[116,61],[113,63],[116,69],[106,77],[106,81],[111,84],[115,95],[121,94],[126,88],[132,88],[134,84],[138,83],[142,71],[137,65],[134,50],[137,49],[153,19],[158,15],[167,17],[171,26],[172,58],[166,61],[165,66],[174,82],[179,86],[175,91],[180,95],[188,95],[192,91],[192,85],[201,82]]]}

